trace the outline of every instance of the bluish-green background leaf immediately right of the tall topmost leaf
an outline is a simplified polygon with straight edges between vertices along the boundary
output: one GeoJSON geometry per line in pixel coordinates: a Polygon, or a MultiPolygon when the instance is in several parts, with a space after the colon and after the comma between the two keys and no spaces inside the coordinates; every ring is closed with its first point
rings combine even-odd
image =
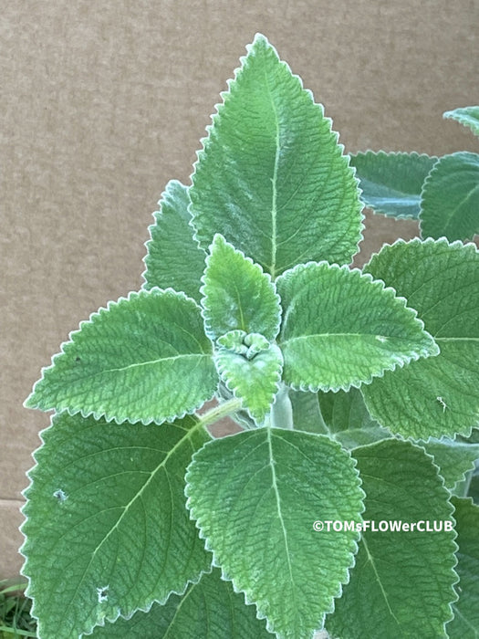
{"type": "Polygon", "coordinates": [[[366,206],[398,218],[418,217],[422,184],[435,162],[437,157],[415,152],[368,151],[351,156],[366,206]]]}

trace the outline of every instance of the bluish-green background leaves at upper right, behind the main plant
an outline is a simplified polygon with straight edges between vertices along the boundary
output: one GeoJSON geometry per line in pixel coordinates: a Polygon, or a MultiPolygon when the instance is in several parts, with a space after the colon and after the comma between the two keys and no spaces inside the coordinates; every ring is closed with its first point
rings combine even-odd
{"type": "MultiPolygon", "coordinates": [[[[479,107],[446,111],[479,135],[479,107]]],[[[362,199],[373,211],[411,217],[422,237],[472,239],[479,233],[479,155],[455,152],[441,158],[418,153],[364,152],[352,157],[362,199]]]]}

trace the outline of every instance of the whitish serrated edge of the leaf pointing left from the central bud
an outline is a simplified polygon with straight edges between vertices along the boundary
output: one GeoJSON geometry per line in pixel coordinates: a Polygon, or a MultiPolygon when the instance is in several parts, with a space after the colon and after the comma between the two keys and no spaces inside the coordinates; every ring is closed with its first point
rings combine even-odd
{"type": "MultiPolygon", "coordinates": [[[[36,392],[36,386],[43,381],[44,379],[44,375],[45,372],[53,369],[53,367],[56,364],[56,361],[59,357],[61,357],[62,355],[64,355],[65,353],[65,347],[68,346],[70,343],[73,343],[73,339],[76,335],[78,335],[78,333],[81,332],[81,330],[83,329],[83,327],[86,324],[91,324],[93,319],[96,319],[97,317],[100,317],[101,315],[103,315],[106,312],[109,312],[110,309],[119,306],[121,303],[123,303],[124,301],[130,301],[131,299],[135,299],[135,298],[139,298],[139,297],[143,297],[143,296],[149,296],[149,295],[156,295],[157,293],[168,293],[168,294],[174,294],[174,296],[182,298],[183,300],[187,300],[190,302],[193,302],[194,306],[200,310],[201,312],[201,307],[198,304],[198,302],[193,299],[190,298],[186,295],[186,293],[184,293],[183,291],[177,291],[174,290],[174,288],[159,288],[159,287],[153,287],[150,288],[148,290],[141,288],[139,291],[130,291],[130,293],[128,294],[127,297],[121,296],[119,299],[116,300],[109,300],[109,302],[107,302],[107,306],[101,306],[99,307],[98,310],[93,311],[92,313],[90,313],[89,315],[89,319],[83,319],[82,321],[80,321],[80,323],[78,324],[78,329],[75,330],[70,330],[70,332],[68,333],[68,340],[63,341],[60,344],[60,351],[57,352],[55,355],[53,355],[50,359],[51,359],[51,363],[47,366],[43,366],[40,372],[40,377],[38,380],[36,380],[36,382],[33,385],[32,391],[31,393],[28,395],[28,397],[26,398],[25,402],[23,403],[25,408],[38,408],[39,410],[42,410],[44,412],[48,412],[48,411],[56,411],[57,409],[55,407],[51,407],[51,408],[47,408],[47,409],[40,409],[38,406],[38,403],[36,403],[35,405],[28,405],[29,400],[33,397],[33,395],[36,392]]],[[[204,355],[206,355],[208,353],[204,353],[204,355]]],[[[213,352],[211,353],[211,357],[213,359],[213,352]]],[[[214,394],[216,393],[216,389],[213,391],[211,397],[207,397],[203,402],[198,403],[197,405],[195,405],[192,409],[190,409],[189,411],[184,411],[182,412],[182,414],[172,414],[172,415],[168,415],[166,416],[164,419],[139,419],[139,420],[135,420],[134,422],[132,422],[128,417],[116,417],[115,415],[109,415],[109,414],[105,414],[105,413],[99,413],[96,411],[84,411],[81,408],[78,409],[74,409],[74,408],[70,408],[70,407],[66,407],[65,409],[61,409],[60,411],[57,411],[58,413],[61,413],[63,410],[67,411],[68,414],[70,415],[76,415],[76,414],[81,414],[82,417],[89,417],[92,416],[94,419],[104,419],[106,422],[114,422],[115,424],[124,424],[125,422],[128,422],[130,424],[143,424],[143,425],[148,425],[148,424],[164,424],[165,422],[172,422],[175,419],[182,419],[183,417],[185,417],[187,414],[193,414],[195,411],[197,411],[199,408],[201,408],[201,406],[203,406],[203,403],[206,403],[208,401],[210,401],[211,399],[213,399],[214,394]]]]}

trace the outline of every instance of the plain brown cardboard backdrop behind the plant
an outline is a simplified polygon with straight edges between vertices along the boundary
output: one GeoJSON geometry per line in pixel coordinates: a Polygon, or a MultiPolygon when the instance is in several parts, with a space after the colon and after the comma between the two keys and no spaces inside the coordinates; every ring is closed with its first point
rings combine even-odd
{"type": "MultiPolygon", "coordinates": [[[[0,17],[0,578],[48,416],[22,403],[68,331],[141,287],[164,184],[188,181],[218,94],[261,31],[347,151],[478,151],[477,0],[13,0],[0,17]]],[[[377,218],[379,219],[379,218],[377,218]]],[[[380,246],[412,236],[381,223],[380,246]]],[[[372,244],[371,244],[372,243],[372,244]]]]}

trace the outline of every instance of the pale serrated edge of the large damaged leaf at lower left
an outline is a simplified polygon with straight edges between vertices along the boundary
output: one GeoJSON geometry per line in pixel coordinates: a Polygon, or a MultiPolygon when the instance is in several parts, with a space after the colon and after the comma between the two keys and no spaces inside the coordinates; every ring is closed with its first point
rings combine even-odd
{"type": "MultiPolygon", "coordinates": [[[[37,625],[38,625],[37,634],[38,634],[39,639],[43,639],[42,634],[41,634],[41,625],[42,625],[42,622],[41,622],[41,620],[40,620],[40,619],[36,616],[36,611],[35,611],[36,601],[35,601],[35,597],[34,597],[34,596],[31,596],[31,595],[30,595],[30,592],[29,592],[29,590],[30,590],[30,585],[31,585],[31,578],[30,578],[30,576],[29,576],[28,574],[26,574],[26,572],[25,572],[25,571],[26,571],[26,566],[27,566],[27,563],[28,563],[28,557],[27,557],[27,555],[25,554],[25,551],[26,551],[26,550],[28,550],[28,545],[29,545],[29,541],[30,541],[30,539],[28,539],[28,537],[27,537],[27,536],[26,536],[26,534],[24,533],[24,527],[25,527],[25,525],[26,525],[26,523],[28,522],[28,519],[29,519],[29,518],[27,517],[26,513],[25,513],[25,508],[28,506],[28,503],[29,503],[29,499],[26,497],[26,494],[27,494],[27,492],[29,491],[29,489],[33,486],[32,473],[34,473],[34,471],[36,470],[36,468],[37,468],[37,466],[38,466],[38,461],[37,461],[37,459],[36,459],[36,454],[37,454],[39,451],[41,451],[41,449],[42,449],[42,448],[43,448],[43,446],[45,445],[44,434],[45,434],[45,433],[47,433],[47,431],[51,430],[51,429],[54,427],[54,425],[55,425],[55,424],[53,424],[53,419],[54,419],[54,417],[55,417],[57,414],[61,414],[61,413],[68,413],[68,411],[59,411],[59,412],[55,412],[54,414],[52,414],[52,415],[50,416],[50,423],[49,423],[49,424],[48,424],[45,428],[43,428],[43,429],[42,429],[42,430],[38,433],[38,437],[39,437],[39,439],[40,439],[40,445],[38,445],[38,446],[36,447],[36,449],[33,451],[33,453],[31,454],[31,456],[32,456],[33,461],[35,462],[35,464],[34,464],[34,466],[32,466],[29,470],[27,470],[27,471],[26,471],[25,475],[26,475],[26,478],[28,479],[28,486],[27,486],[26,488],[24,488],[24,489],[22,490],[22,492],[21,492],[21,495],[22,495],[22,497],[23,497],[23,498],[25,498],[25,499],[26,499],[26,502],[25,502],[25,504],[22,506],[22,508],[20,508],[20,512],[21,512],[21,514],[22,514],[22,516],[23,516],[23,518],[24,518],[24,521],[20,524],[20,526],[19,526],[19,528],[18,528],[18,529],[19,529],[19,531],[21,532],[21,534],[22,534],[23,538],[24,538],[24,540],[23,540],[23,542],[22,542],[22,545],[20,546],[20,548],[19,548],[19,550],[18,550],[18,552],[19,552],[20,556],[21,556],[21,557],[23,557],[23,559],[24,559],[24,562],[23,562],[22,567],[21,567],[21,569],[20,569],[20,574],[21,574],[23,577],[25,577],[25,578],[26,578],[26,581],[27,581],[25,594],[26,594],[26,596],[27,596],[27,597],[31,597],[32,607],[31,607],[31,610],[30,610],[30,614],[32,615],[32,617],[34,617],[34,618],[36,619],[36,622],[37,622],[37,625]]],[[[69,414],[69,413],[68,413],[68,414],[69,414]]],[[[96,419],[96,418],[95,418],[95,419],[96,419]]],[[[137,424],[140,424],[140,422],[137,422],[137,424]]],[[[202,423],[201,423],[201,421],[199,421],[199,422],[198,422],[198,424],[197,424],[197,425],[198,425],[198,427],[199,427],[199,425],[200,425],[200,424],[202,424],[202,423]]],[[[143,425],[147,425],[147,424],[143,424],[143,425]]],[[[203,447],[203,446],[202,446],[202,447],[203,447]]],[[[201,449],[199,449],[199,450],[201,450],[201,449]]],[[[185,485],[186,485],[186,484],[185,484],[185,485]]],[[[190,519],[191,519],[191,517],[190,517],[190,519]]],[[[178,591],[174,591],[174,590],[172,590],[171,592],[169,592],[169,593],[166,595],[166,597],[164,598],[164,600],[160,600],[160,599],[153,599],[153,600],[151,600],[151,602],[150,602],[149,604],[146,604],[146,606],[145,606],[144,608],[142,608],[142,607],[136,608],[136,609],[135,609],[135,610],[134,610],[134,611],[133,611],[133,612],[132,612],[129,616],[124,616],[124,615],[122,615],[122,614],[120,613],[120,607],[117,607],[117,615],[116,615],[116,617],[115,617],[114,619],[113,619],[113,618],[109,618],[109,617],[108,617],[108,618],[107,618],[107,617],[104,617],[104,618],[103,618],[103,620],[102,620],[102,623],[96,623],[96,624],[95,624],[95,625],[91,628],[91,632],[89,632],[89,633],[81,633],[81,634],[78,634],[78,639],[80,639],[80,638],[81,638],[81,637],[83,637],[83,636],[89,636],[90,634],[92,634],[92,633],[93,633],[93,631],[95,630],[95,628],[97,628],[98,626],[100,626],[100,627],[104,627],[106,622],[109,622],[109,623],[115,623],[115,622],[116,622],[116,621],[117,621],[120,617],[122,617],[123,619],[130,619],[130,618],[133,616],[133,614],[137,613],[138,611],[141,611],[142,613],[148,613],[148,612],[151,610],[151,606],[153,605],[153,603],[159,603],[160,605],[163,605],[164,603],[166,603],[166,602],[168,601],[168,599],[170,598],[170,595],[172,595],[172,594],[177,594],[177,595],[179,595],[179,596],[182,596],[182,595],[186,592],[186,590],[187,590],[188,586],[189,586],[191,583],[193,583],[193,585],[196,585],[196,584],[197,584],[197,583],[201,580],[201,578],[203,577],[203,574],[210,574],[212,571],[213,571],[213,563],[211,564],[211,566],[210,566],[210,570],[209,570],[209,571],[201,571],[201,572],[200,572],[200,574],[198,575],[197,579],[192,579],[192,580],[188,580],[188,581],[186,581],[186,583],[184,584],[184,588],[183,588],[182,592],[178,592],[178,591]]]]}

